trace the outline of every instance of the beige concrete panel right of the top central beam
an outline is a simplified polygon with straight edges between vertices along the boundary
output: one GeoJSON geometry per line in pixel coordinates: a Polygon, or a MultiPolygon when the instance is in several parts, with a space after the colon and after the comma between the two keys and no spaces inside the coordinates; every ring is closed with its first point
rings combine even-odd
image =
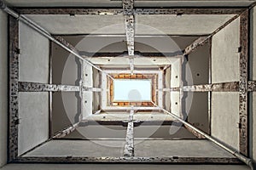
{"type": "Polygon", "coordinates": [[[137,15],[136,34],[152,35],[162,31],[168,35],[206,35],[224,25],[232,16],[230,14],[137,15]],[[145,26],[155,30],[145,29],[145,26]]]}

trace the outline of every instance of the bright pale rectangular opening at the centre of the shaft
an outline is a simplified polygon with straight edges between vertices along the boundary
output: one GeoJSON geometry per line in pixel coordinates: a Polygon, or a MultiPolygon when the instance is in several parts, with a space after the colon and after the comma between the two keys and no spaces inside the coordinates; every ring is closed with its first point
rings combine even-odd
{"type": "Polygon", "coordinates": [[[151,101],[151,80],[114,80],[113,101],[151,101]]]}

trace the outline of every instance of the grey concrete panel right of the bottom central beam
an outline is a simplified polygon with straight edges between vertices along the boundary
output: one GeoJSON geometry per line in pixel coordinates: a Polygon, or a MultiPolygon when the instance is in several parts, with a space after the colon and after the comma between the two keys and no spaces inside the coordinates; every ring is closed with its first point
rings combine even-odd
{"type": "Polygon", "coordinates": [[[229,152],[208,140],[143,140],[140,142],[135,144],[134,150],[135,156],[138,157],[233,157],[229,152]]]}

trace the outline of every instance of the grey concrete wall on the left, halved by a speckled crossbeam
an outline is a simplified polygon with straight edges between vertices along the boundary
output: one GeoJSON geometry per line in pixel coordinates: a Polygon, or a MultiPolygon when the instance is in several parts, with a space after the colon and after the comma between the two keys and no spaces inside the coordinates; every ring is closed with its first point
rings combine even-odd
{"type": "MultiPolygon", "coordinates": [[[[49,82],[49,41],[20,23],[21,82],[49,82]]],[[[19,94],[19,154],[44,142],[49,134],[49,94],[19,94]]]]}

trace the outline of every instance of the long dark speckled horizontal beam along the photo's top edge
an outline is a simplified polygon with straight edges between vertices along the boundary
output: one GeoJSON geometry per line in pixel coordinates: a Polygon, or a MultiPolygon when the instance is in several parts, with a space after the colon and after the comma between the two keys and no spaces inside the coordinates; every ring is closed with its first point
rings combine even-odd
{"type": "MultiPolygon", "coordinates": [[[[134,8],[134,14],[240,14],[246,8],[134,8]]],[[[20,14],[124,14],[123,8],[17,8],[20,14]]],[[[131,12],[127,10],[127,12],[131,12]]],[[[127,13],[126,13],[127,14],[127,13]]]]}

